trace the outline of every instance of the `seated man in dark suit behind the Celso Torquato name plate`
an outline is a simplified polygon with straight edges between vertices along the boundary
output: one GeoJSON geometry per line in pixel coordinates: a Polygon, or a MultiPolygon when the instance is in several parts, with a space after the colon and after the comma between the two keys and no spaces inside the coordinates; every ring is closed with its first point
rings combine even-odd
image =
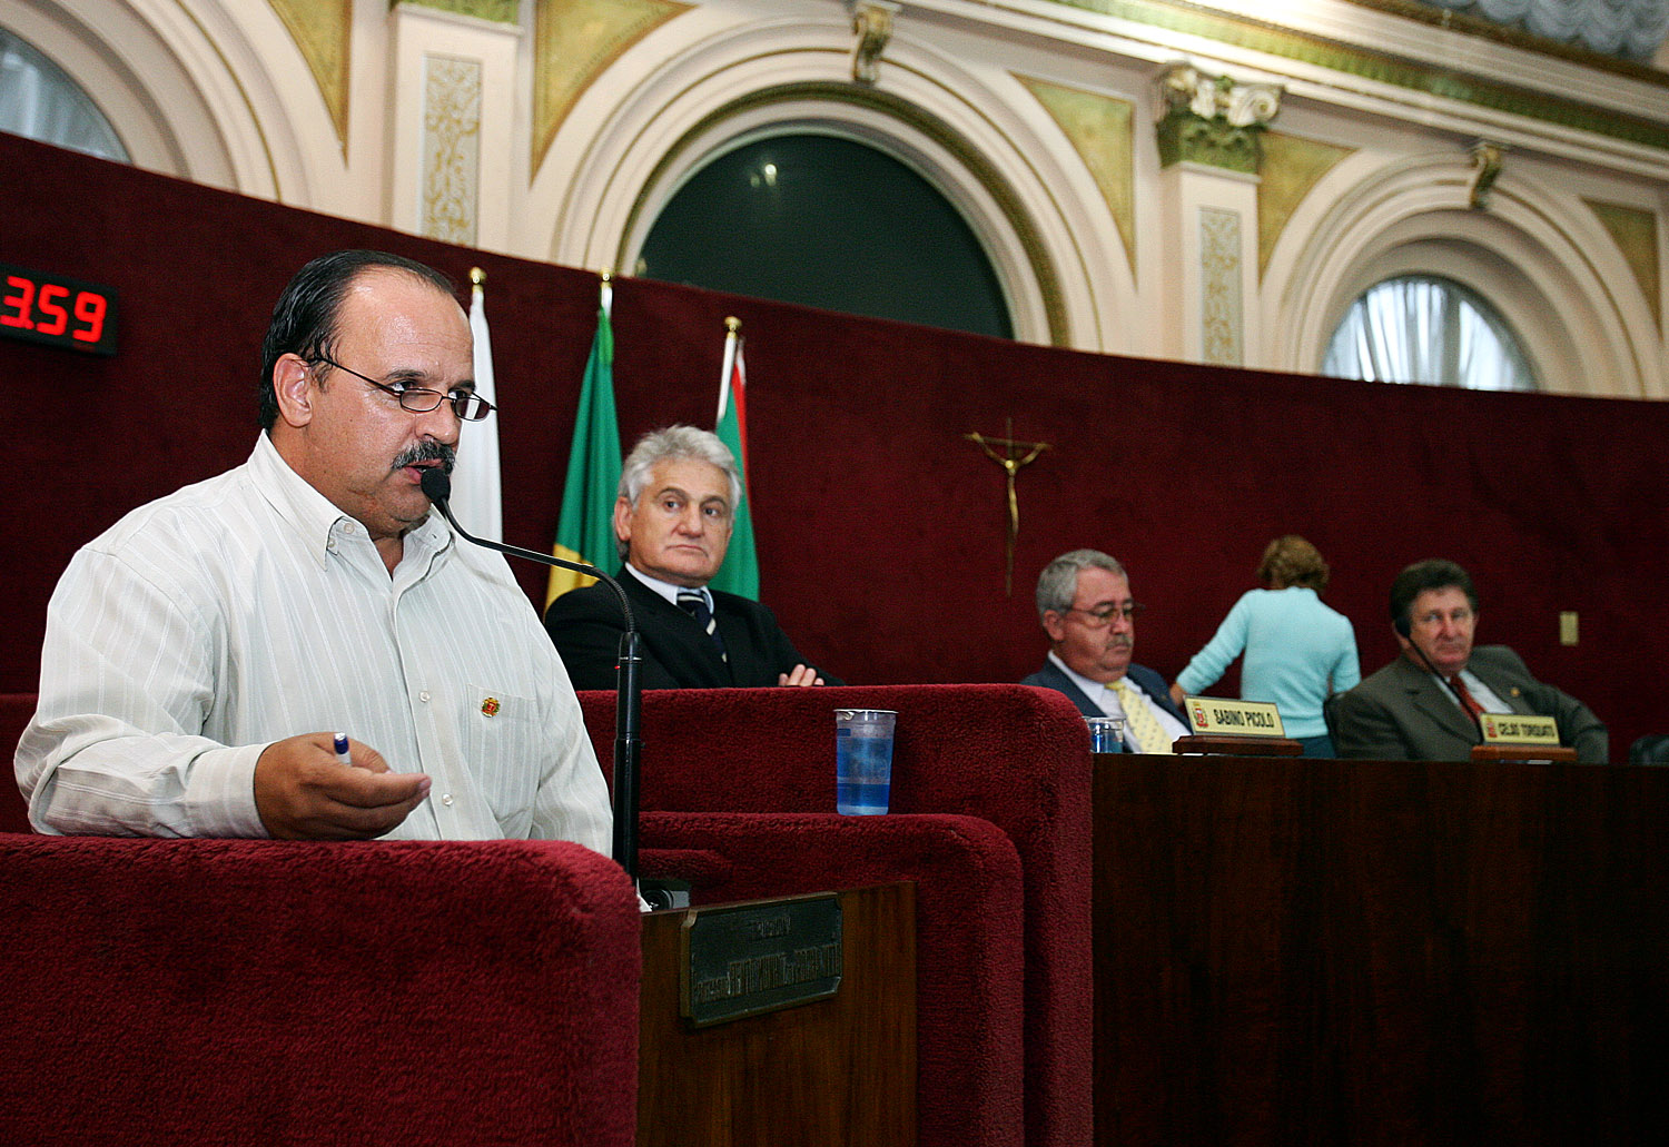
{"type": "Polygon", "coordinates": [[[1465,761],[1480,713],[1530,713],[1559,723],[1577,760],[1609,760],[1606,726],[1569,693],[1530,676],[1504,644],[1472,646],[1477,591],[1452,561],[1417,561],[1390,586],[1390,623],[1402,656],[1337,701],[1340,756],[1465,761]]]}

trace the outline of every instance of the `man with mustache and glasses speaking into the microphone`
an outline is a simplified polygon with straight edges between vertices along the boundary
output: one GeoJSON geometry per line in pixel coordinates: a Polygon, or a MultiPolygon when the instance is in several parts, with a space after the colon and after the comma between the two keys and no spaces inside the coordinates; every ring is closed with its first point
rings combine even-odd
{"type": "Polygon", "coordinates": [[[33,825],[608,853],[608,788],[532,603],[421,488],[491,409],[444,275],[369,250],[307,264],[262,346],[249,461],[127,514],[52,594],[17,750],[33,825]]]}

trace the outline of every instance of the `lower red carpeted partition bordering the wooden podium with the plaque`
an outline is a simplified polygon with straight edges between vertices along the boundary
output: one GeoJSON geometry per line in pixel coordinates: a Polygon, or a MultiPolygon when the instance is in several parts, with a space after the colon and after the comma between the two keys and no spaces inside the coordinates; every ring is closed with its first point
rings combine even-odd
{"type": "Polygon", "coordinates": [[[1021,873],[973,816],[644,813],[644,877],[716,903],[916,882],[916,1117],[921,1147],[1018,1147],[1021,873]]]}

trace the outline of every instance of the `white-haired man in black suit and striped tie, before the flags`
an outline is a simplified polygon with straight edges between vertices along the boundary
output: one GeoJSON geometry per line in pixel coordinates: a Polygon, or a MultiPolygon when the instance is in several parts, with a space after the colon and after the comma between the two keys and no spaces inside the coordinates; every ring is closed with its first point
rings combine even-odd
{"type": "MultiPolygon", "coordinates": [[[[708,589],[724,563],[741,476],[729,447],[693,426],[639,439],[621,467],[618,579],[643,634],[643,688],[840,685],[794,649],[758,601],[708,589]]],[[[619,599],[604,584],[571,589],[544,613],[576,690],[613,690],[619,599]]]]}

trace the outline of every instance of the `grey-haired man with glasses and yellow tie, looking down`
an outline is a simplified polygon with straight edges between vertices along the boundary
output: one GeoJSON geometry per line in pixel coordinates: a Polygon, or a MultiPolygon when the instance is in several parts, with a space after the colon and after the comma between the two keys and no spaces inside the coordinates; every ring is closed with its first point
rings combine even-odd
{"type": "Polygon", "coordinates": [[[1113,558],[1098,549],[1061,554],[1038,576],[1048,661],[1021,685],[1060,690],[1085,716],[1125,718],[1132,753],[1170,753],[1188,735],[1188,718],[1172,703],[1165,678],[1130,661],[1138,613],[1130,578],[1113,558]]]}

